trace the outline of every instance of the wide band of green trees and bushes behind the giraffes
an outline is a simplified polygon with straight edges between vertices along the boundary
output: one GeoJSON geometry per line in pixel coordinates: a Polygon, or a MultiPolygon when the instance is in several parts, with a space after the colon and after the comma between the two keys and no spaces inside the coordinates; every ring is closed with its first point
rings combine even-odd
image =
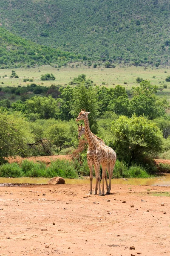
{"type": "MultiPolygon", "coordinates": [[[[0,100],[1,163],[4,157],[14,155],[71,154],[73,162],[65,162],[65,166],[74,169],[75,177],[88,175],[88,145],[84,138],[78,141],[75,122],[84,108],[91,112],[91,131],[117,153],[114,177],[148,177],[157,171],[153,157],[170,151],[168,104],[165,98],[156,96],[157,90],[150,81],[142,80],[129,97],[125,87],[96,86],[84,74],[67,86],[31,83],[25,87],[1,87],[0,93],[9,96],[0,100]]],[[[64,164],[57,166],[60,170],[64,164]]],[[[10,176],[7,169],[0,171],[3,177],[10,176]]],[[[47,177],[46,168],[33,174],[32,169],[19,170],[19,176],[47,177]]],[[[71,177],[70,172],[65,177],[71,177]]]]}

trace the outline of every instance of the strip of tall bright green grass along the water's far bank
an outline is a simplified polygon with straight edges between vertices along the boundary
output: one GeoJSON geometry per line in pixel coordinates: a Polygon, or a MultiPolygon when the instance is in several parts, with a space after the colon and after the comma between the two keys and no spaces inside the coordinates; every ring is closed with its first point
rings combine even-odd
{"type": "MultiPolygon", "coordinates": [[[[162,168],[165,166],[162,166],[162,168]]],[[[168,169],[170,171],[170,168],[168,169]]],[[[93,172],[95,175],[95,172],[93,172]]],[[[68,160],[56,160],[46,167],[44,163],[34,163],[24,160],[22,163],[6,163],[0,166],[0,177],[55,177],[78,178],[79,176],[89,176],[89,167],[85,159],[81,164],[78,160],[70,162],[68,160]]],[[[128,167],[126,163],[116,161],[113,170],[113,178],[147,178],[150,175],[142,166],[133,165],[128,167]]]]}

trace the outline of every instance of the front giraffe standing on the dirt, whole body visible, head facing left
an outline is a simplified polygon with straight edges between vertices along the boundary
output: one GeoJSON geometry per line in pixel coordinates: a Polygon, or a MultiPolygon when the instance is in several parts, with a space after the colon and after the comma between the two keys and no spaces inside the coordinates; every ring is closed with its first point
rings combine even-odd
{"type": "Polygon", "coordinates": [[[90,194],[92,194],[92,180],[93,180],[93,165],[95,169],[96,175],[96,186],[94,190],[94,195],[97,193],[97,189],[99,186],[99,195],[105,195],[104,188],[104,178],[106,180],[107,194],[110,194],[111,191],[111,178],[113,175],[113,169],[116,162],[116,153],[114,150],[105,145],[105,143],[96,135],[94,135],[89,127],[88,123],[88,114],[90,112],[86,112],[85,110],[81,110],[79,115],[77,116],[76,121],[84,120],[85,122],[85,136],[88,140],[88,152],[87,152],[87,161],[90,169],[90,194]],[[100,165],[102,165],[102,192],[100,188],[100,165]],[[107,182],[106,169],[108,169],[109,174],[109,185],[107,182]]]}

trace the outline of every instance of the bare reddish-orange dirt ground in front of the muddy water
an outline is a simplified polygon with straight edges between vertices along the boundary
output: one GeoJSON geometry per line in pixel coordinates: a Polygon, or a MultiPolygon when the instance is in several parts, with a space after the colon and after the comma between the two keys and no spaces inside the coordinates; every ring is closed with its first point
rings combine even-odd
{"type": "Polygon", "coordinates": [[[111,192],[0,187],[0,256],[170,255],[170,187],[112,185],[111,192]]]}

